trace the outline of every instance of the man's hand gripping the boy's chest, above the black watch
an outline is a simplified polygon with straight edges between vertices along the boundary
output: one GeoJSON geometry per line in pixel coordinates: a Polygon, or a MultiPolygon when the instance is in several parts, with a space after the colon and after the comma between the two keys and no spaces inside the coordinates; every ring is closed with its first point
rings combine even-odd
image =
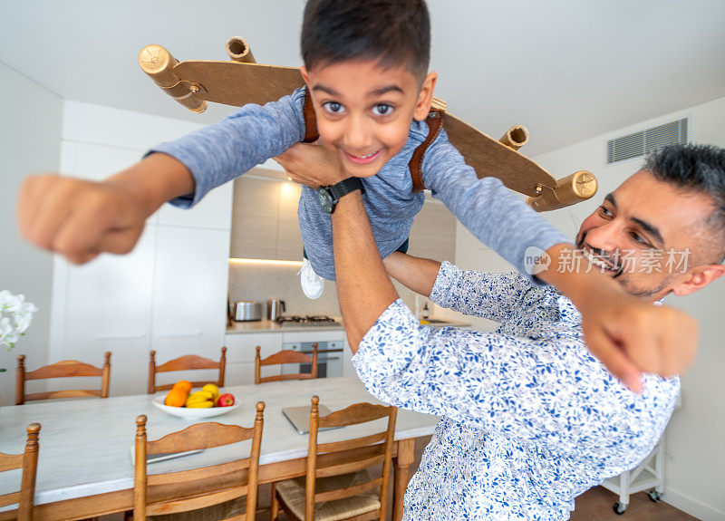
{"type": "Polygon", "coordinates": [[[275,160],[287,171],[289,180],[311,188],[335,185],[350,177],[337,152],[319,141],[295,143],[275,160]]]}

